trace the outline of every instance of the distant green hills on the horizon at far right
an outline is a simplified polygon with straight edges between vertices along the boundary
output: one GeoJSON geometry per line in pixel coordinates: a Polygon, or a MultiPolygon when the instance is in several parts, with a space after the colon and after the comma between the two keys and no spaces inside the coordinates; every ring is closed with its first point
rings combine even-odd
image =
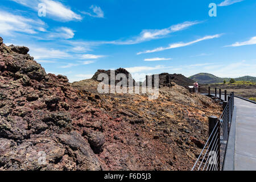
{"type": "MultiPolygon", "coordinates": [[[[192,80],[198,81],[200,84],[216,84],[223,82],[224,80],[229,81],[230,78],[221,78],[210,73],[198,73],[196,75],[190,76],[192,80]]],[[[252,81],[256,82],[256,77],[253,76],[243,76],[234,78],[236,81],[252,81]]]]}

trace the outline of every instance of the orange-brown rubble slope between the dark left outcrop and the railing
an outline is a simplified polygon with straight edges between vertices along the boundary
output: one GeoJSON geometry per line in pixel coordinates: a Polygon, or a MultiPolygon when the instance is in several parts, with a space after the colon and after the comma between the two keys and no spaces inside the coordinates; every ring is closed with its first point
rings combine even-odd
{"type": "Polygon", "coordinates": [[[106,126],[105,138],[85,132],[93,146],[104,139],[98,156],[112,170],[190,170],[208,138],[208,116],[221,113],[216,102],[175,82],[162,86],[156,100],[147,94],[99,95],[97,84],[89,79],[72,85],[82,100],[117,122],[106,126]]]}

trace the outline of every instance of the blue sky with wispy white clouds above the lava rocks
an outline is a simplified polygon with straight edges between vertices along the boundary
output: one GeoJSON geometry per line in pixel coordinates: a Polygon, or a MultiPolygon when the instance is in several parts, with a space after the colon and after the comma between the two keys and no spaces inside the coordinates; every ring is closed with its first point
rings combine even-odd
{"type": "Polygon", "coordinates": [[[1,0],[0,36],[71,82],[120,67],[136,80],[162,72],[256,76],[255,8],[255,0],[1,0]]]}

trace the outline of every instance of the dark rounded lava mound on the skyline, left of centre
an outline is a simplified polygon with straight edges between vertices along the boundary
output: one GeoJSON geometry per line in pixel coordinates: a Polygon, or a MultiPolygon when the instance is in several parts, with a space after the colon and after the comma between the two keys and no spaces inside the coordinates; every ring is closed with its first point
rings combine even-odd
{"type": "MultiPolygon", "coordinates": [[[[102,80],[98,80],[98,75],[100,75],[101,73],[106,73],[109,77],[109,85],[110,85],[110,72],[111,70],[104,70],[104,69],[98,69],[98,71],[93,75],[92,77],[92,80],[96,80],[96,81],[102,81],[102,80]]],[[[115,77],[119,74],[119,73],[123,73],[125,74],[126,78],[127,78],[127,86],[129,86],[129,72],[124,69],[124,68],[118,68],[118,69],[115,69],[115,77]]],[[[130,78],[133,80],[133,85],[135,85],[135,80],[133,79],[133,77],[131,77],[130,75],[130,78]]],[[[115,80],[115,85],[120,82],[121,80],[115,80]]]]}

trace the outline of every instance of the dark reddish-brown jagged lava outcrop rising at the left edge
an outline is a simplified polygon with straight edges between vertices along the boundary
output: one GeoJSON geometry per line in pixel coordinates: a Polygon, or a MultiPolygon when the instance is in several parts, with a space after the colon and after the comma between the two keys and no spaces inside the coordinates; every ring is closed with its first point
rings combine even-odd
{"type": "Polygon", "coordinates": [[[103,169],[93,150],[104,140],[94,135],[104,138],[103,123],[114,121],[79,100],[67,77],[47,75],[28,51],[0,38],[0,170],[103,169]],[[85,128],[96,134],[83,137],[85,128]]]}

